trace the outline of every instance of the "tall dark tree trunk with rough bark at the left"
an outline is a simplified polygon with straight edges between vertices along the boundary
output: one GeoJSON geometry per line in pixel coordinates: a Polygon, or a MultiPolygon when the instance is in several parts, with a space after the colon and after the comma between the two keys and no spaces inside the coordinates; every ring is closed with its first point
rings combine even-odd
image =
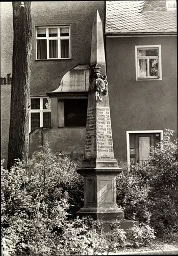
{"type": "Polygon", "coordinates": [[[29,108],[32,55],[31,2],[12,2],[13,57],[8,169],[20,159],[27,164],[29,154],[29,108]]]}

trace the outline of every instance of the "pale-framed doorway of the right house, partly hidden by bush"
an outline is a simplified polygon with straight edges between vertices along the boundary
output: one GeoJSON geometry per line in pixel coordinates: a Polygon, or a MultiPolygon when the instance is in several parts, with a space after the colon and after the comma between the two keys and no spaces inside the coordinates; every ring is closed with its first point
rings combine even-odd
{"type": "Polygon", "coordinates": [[[163,139],[163,131],[128,131],[126,132],[128,165],[143,165],[148,160],[150,146],[157,147],[163,139]]]}

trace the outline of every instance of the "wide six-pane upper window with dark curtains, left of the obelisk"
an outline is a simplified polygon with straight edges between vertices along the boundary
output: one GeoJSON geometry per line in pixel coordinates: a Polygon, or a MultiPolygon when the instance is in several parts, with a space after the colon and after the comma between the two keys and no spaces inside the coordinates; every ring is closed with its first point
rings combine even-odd
{"type": "Polygon", "coordinates": [[[70,58],[70,27],[36,27],[36,59],[70,58]]]}

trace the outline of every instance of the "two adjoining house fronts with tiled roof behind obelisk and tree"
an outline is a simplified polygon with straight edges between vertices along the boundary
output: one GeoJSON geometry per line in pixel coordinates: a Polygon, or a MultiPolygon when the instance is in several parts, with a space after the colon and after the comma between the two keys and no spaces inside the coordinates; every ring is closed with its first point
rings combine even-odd
{"type": "MultiPolygon", "coordinates": [[[[48,141],[82,160],[92,23],[105,32],[114,155],[142,163],[164,128],[177,134],[175,1],[32,2],[30,152],[48,141]],[[169,5],[168,3],[169,2],[169,5]],[[170,2],[172,5],[170,5],[170,2]],[[105,26],[106,24],[106,26],[105,26]]],[[[1,137],[8,156],[12,3],[1,3],[1,137]]]]}

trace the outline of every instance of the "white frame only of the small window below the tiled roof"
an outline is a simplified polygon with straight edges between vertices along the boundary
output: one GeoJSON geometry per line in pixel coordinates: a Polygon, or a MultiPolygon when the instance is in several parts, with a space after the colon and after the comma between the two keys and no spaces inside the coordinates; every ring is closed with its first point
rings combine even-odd
{"type": "MultiPolygon", "coordinates": [[[[140,59],[149,59],[150,57],[155,58],[156,56],[141,56],[140,59]]],[[[161,61],[161,45],[135,46],[136,81],[162,80],[162,65],[161,65],[161,63],[162,63],[162,61],[161,61]],[[158,74],[159,74],[159,76],[158,77],[155,77],[155,76],[139,77],[138,76],[138,71],[139,71],[138,50],[151,50],[151,49],[158,49],[158,74]]],[[[147,67],[149,69],[149,65],[147,65],[147,67]]]]}

